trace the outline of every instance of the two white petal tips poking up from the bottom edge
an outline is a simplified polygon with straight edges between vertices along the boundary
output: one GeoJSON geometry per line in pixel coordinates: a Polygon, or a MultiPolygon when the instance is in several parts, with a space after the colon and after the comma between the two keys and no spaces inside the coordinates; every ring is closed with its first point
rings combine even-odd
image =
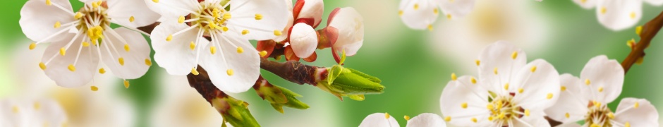
{"type": "MultiPolygon", "coordinates": [[[[410,116],[404,116],[408,121],[406,127],[446,127],[446,123],[437,114],[423,113],[410,119],[410,116]]],[[[361,121],[360,127],[396,127],[398,121],[389,114],[375,113],[366,116],[361,121]]]]}

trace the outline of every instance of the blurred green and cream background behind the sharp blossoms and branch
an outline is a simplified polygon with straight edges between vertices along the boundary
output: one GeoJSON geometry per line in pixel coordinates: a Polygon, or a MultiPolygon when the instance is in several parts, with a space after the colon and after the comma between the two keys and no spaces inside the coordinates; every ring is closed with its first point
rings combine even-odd
{"type": "MultiPolygon", "coordinates": [[[[188,86],[185,76],[168,75],[153,65],[142,78],[130,80],[126,89],[111,73],[98,75],[90,85],[58,87],[37,66],[46,44],[28,50],[30,40],[18,25],[20,8],[26,0],[0,1],[0,99],[49,98],[66,110],[70,126],[220,126],[221,116],[188,86]]],[[[83,6],[71,0],[74,10],[83,6]]],[[[249,90],[233,97],[250,103],[250,111],[262,126],[358,126],[368,114],[389,112],[405,126],[404,115],[441,114],[439,97],[449,75],[476,75],[473,65],[487,44],[505,40],[525,50],[528,61],[545,59],[559,73],[579,75],[590,58],[600,54],[622,61],[631,49],[626,41],[635,38],[635,27],[612,31],[600,25],[595,10],[585,10],[571,0],[494,1],[477,0],[465,18],[441,16],[432,31],[411,30],[401,22],[398,0],[325,1],[325,15],[336,7],[351,6],[364,18],[365,41],[357,55],[348,57],[346,67],[383,80],[382,95],[367,95],[362,102],[341,102],[311,85],[297,85],[267,71],[264,78],[304,97],[310,109],[272,109],[249,90]]],[[[638,25],[657,16],[663,8],[643,5],[638,25]]],[[[47,13],[47,12],[44,12],[47,13]]],[[[322,22],[318,29],[324,28],[322,22]]],[[[149,37],[148,37],[149,39],[149,37]]],[[[623,97],[648,99],[659,114],[663,111],[663,35],[659,33],[645,52],[645,62],[626,74],[623,97]]],[[[255,45],[255,42],[253,42],[255,45]]],[[[154,52],[152,52],[152,55],[154,52]]],[[[318,50],[315,66],[334,65],[329,49],[318,50]]],[[[660,120],[659,120],[660,121],[660,120]]]]}

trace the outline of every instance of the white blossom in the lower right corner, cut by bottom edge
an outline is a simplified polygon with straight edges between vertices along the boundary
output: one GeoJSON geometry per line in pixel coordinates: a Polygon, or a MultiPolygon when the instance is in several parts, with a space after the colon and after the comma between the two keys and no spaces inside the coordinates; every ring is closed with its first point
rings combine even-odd
{"type": "Polygon", "coordinates": [[[607,104],[619,97],[624,83],[624,68],[607,56],[596,56],[580,72],[560,76],[558,102],[546,109],[551,119],[563,123],[585,120],[585,126],[658,126],[656,108],[646,99],[625,98],[616,112],[607,104]]]}

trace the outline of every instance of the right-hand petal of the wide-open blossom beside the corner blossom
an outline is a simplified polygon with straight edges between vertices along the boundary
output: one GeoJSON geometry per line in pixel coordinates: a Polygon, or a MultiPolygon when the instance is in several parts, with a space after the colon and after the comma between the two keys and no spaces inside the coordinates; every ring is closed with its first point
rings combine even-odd
{"type": "Polygon", "coordinates": [[[515,79],[511,86],[517,89],[513,91],[516,93],[513,100],[524,109],[543,111],[559,98],[559,73],[545,60],[537,59],[528,63],[518,71],[515,79]]]}

